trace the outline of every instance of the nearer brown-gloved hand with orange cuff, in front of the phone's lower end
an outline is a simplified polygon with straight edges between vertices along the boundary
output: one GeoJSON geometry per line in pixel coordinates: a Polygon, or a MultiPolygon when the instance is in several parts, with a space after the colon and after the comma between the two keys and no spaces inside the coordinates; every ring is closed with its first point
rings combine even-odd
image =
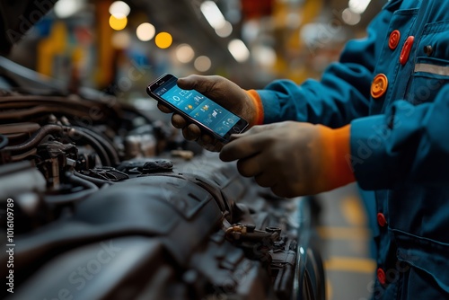
{"type": "Polygon", "coordinates": [[[233,135],[220,158],[280,197],[312,195],[355,181],[348,163],[350,125],[331,129],[287,121],[233,135]]]}

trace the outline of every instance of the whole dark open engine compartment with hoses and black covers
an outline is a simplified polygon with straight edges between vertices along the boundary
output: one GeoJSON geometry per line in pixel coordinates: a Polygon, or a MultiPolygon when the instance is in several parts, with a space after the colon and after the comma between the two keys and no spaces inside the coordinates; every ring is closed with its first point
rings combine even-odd
{"type": "Polygon", "coordinates": [[[308,198],[108,94],[0,70],[2,296],[324,299],[308,198]]]}

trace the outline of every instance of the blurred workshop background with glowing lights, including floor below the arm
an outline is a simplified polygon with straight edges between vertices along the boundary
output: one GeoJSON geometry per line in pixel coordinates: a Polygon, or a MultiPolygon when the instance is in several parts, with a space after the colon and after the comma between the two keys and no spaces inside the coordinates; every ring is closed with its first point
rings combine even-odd
{"type": "MultiPolygon", "coordinates": [[[[145,87],[165,72],[223,75],[247,89],[319,78],[385,2],[59,0],[8,58],[74,93],[92,87],[157,115],[145,87]]],[[[375,263],[357,187],[318,195],[317,207],[328,299],[370,298],[375,263]]]]}

